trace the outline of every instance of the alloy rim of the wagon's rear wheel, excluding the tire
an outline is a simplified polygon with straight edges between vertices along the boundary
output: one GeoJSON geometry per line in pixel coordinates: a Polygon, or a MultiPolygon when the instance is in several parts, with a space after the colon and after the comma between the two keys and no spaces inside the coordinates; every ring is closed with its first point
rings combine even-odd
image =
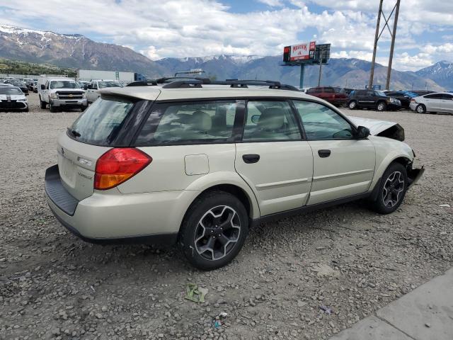
{"type": "Polygon", "coordinates": [[[195,228],[195,250],[203,258],[217,261],[234,249],[241,234],[241,220],[227,205],[214,207],[200,218],[195,228]]]}

